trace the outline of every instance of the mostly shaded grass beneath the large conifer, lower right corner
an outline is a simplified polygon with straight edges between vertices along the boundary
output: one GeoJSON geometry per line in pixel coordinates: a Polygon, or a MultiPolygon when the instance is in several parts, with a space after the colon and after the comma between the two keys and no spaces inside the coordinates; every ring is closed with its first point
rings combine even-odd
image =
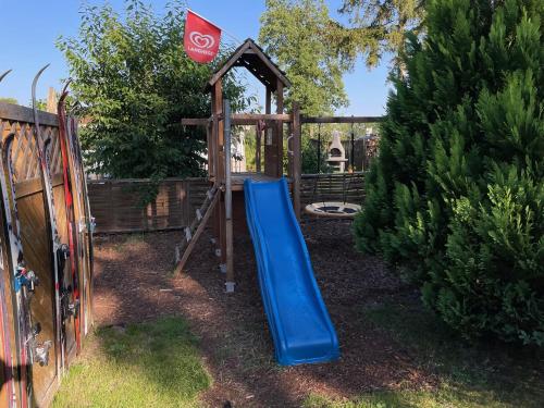
{"type": "Polygon", "coordinates": [[[305,408],[544,407],[542,350],[468,344],[419,305],[382,305],[366,320],[438,379],[434,390],[392,390],[349,400],[310,395],[305,408]]]}

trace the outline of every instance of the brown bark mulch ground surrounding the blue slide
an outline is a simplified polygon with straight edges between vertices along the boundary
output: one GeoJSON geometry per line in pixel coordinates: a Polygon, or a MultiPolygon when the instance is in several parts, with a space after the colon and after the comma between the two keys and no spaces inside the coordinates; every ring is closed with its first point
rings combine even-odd
{"type": "Polygon", "coordinates": [[[224,293],[207,231],[185,273],[172,276],[174,245],[182,233],[100,236],[96,240],[95,313],[98,325],[182,314],[200,338],[213,378],[202,395],[211,407],[296,407],[309,394],[354,397],[374,390],[433,387],[398,344],[364,320],[369,307],[417,298],[376,258],[354,249],[346,221],[305,221],[302,233],[316,276],[337,331],[337,362],[282,368],[274,362],[257,281],[252,244],[237,234],[236,292],[224,293]]]}

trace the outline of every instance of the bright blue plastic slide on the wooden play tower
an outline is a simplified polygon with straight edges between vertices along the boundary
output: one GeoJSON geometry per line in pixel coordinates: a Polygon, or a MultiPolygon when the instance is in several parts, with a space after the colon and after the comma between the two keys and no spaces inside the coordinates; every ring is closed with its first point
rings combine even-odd
{"type": "Polygon", "coordinates": [[[293,366],[339,357],[338,339],[319,290],[285,178],[244,183],[259,284],[275,357],[293,366]]]}

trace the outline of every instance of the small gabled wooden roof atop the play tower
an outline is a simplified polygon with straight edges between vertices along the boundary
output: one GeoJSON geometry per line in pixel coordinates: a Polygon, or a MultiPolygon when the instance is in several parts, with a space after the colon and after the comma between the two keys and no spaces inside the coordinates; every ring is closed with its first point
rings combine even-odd
{"type": "Polygon", "coordinates": [[[210,89],[213,84],[225,76],[235,66],[244,66],[265,87],[272,91],[277,88],[277,79],[284,87],[289,87],[290,82],[285,73],[264,53],[264,51],[251,39],[248,38],[242,44],[232,55],[215,70],[213,76],[207,84],[210,89]]]}

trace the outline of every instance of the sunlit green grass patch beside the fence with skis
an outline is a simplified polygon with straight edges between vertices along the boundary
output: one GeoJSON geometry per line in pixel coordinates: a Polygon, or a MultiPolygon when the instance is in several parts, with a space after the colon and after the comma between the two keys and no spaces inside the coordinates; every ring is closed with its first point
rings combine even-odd
{"type": "Polygon", "coordinates": [[[53,407],[196,407],[211,384],[181,318],[98,329],[53,407]]]}

